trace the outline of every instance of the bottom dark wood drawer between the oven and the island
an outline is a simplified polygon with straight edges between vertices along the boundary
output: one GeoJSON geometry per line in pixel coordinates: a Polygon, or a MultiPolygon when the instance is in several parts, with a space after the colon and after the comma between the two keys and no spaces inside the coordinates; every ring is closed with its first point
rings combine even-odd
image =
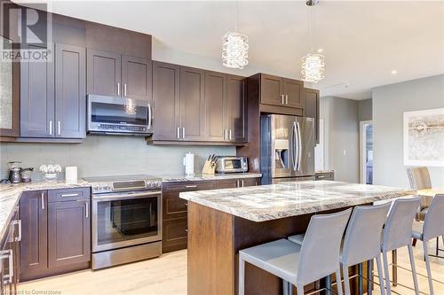
{"type": "Polygon", "coordinates": [[[163,252],[186,249],[187,235],[186,218],[163,221],[163,252]]]}

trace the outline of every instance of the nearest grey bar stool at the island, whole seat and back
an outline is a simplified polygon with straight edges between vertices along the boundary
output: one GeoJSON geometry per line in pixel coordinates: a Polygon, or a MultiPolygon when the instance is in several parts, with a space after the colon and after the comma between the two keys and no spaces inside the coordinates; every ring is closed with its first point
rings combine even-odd
{"type": "MultiPolygon", "coordinates": [[[[339,213],[313,215],[304,243],[297,245],[287,239],[257,245],[239,251],[239,294],[244,294],[245,261],[262,268],[283,282],[284,294],[296,285],[297,294],[304,294],[304,285],[333,273],[341,276],[339,253],[345,226],[352,209],[339,213]]],[[[338,285],[339,295],[343,295],[338,285]]]]}

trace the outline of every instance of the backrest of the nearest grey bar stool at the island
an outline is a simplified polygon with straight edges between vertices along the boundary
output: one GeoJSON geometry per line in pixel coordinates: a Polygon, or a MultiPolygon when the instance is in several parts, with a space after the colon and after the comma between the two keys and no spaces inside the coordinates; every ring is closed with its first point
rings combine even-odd
{"type": "Polygon", "coordinates": [[[300,252],[297,284],[329,276],[339,267],[341,240],[352,208],[339,213],[313,215],[300,252]]]}

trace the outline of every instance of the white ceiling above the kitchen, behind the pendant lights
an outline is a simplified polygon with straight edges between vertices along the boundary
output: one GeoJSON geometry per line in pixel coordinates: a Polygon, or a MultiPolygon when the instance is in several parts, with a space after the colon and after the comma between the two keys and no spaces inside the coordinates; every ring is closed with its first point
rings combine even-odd
{"type": "MultiPolygon", "coordinates": [[[[52,12],[153,35],[154,59],[229,72],[221,66],[220,52],[222,36],[235,26],[233,1],[57,1],[51,6],[52,12]]],[[[299,78],[299,60],[310,49],[305,1],[239,6],[250,65],[231,72],[299,78]]],[[[443,1],[321,0],[315,20],[314,48],[326,57],[326,78],[313,86],[321,96],[364,99],[380,85],[444,74],[443,1]]]]}

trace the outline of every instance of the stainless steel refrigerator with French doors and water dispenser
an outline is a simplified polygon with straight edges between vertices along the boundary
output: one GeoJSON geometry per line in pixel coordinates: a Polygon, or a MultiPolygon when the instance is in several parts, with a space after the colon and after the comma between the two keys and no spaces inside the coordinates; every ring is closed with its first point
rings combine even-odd
{"type": "Polygon", "coordinates": [[[314,180],[314,119],[261,115],[262,184],[314,180]]]}

